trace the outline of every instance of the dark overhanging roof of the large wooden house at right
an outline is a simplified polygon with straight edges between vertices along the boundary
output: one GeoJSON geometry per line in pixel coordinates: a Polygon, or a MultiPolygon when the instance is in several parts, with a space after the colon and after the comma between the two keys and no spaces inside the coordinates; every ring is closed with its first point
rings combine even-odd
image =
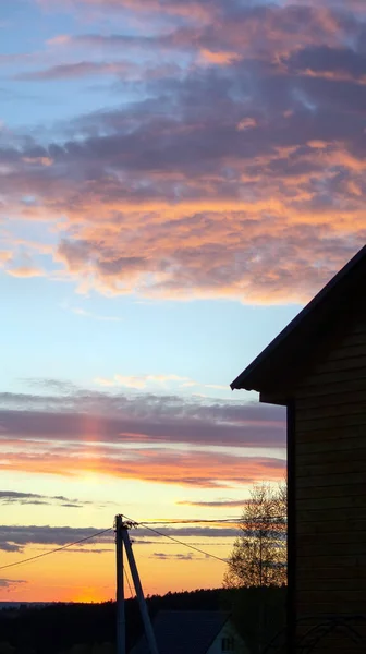
{"type": "Polygon", "coordinates": [[[232,390],[257,390],[273,396],[269,401],[286,403],[294,379],[324,351],[335,327],[352,319],[364,298],[365,280],[366,245],[232,382],[232,390]]]}

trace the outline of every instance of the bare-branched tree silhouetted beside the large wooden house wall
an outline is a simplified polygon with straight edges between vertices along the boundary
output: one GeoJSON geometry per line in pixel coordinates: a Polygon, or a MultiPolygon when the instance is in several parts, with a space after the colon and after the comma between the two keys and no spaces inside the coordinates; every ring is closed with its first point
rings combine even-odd
{"type": "Polygon", "coordinates": [[[229,558],[227,588],[282,585],[286,582],[286,485],[253,486],[229,558]]]}

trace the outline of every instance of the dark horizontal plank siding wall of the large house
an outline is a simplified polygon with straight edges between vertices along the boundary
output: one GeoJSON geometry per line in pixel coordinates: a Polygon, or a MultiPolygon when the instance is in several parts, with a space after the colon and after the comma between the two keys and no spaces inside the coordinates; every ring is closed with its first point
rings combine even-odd
{"type": "MultiPolygon", "coordinates": [[[[366,616],[365,308],[361,314],[295,390],[297,617],[366,616]]],[[[315,650],[330,651],[366,650],[337,633],[315,650]]]]}

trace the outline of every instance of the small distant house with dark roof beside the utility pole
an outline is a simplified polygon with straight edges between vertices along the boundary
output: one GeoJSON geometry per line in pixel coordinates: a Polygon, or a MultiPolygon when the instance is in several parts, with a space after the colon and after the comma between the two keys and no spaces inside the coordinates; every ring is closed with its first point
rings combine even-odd
{"type": "MultiPolygon", "coordinates": [[[[249,654],[227,613],[162,610],[152,628],[159,654],[249,654]]],[[[130,654],[150,654],[145,635],[130,654]]]]}

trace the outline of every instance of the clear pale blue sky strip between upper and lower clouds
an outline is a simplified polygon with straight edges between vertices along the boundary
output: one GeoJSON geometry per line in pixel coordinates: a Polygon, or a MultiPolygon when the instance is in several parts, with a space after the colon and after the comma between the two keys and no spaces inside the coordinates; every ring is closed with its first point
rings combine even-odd
{"type": "Polygon", "coordinates": [[[229,384],[296,312],[233,301],[149,302],[76,295],[47,279],[1,279],[7,347],[1,382],[17,390],[26,378],[49,376],[93,386],[97,377],[176,374],[232,396],[229,384]],[[87,334],[87,338],[86,338],[87,334]],[[215,353],[215,354],[213,354],[215,353]],[[51,371],[53,371],[51,373],[51,371]],[[35,374],[36,373],[36,374],[35,374]]]}

